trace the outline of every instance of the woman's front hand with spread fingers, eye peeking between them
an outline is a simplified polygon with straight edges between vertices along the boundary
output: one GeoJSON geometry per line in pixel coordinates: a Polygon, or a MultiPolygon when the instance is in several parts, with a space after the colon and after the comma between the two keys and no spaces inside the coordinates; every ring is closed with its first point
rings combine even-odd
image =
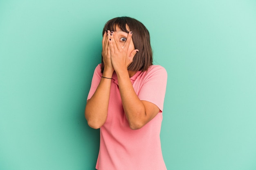
{"type": "Polygon", "coordinates": [[[110,34],[109,46],[110,46],[110,58],[114,70],[117,72],[120,69],[124,69],[132,63],[133,57],[139,51],[131,46],[132,32],[128,33],[126,43],[124,47],[121,47],[119,39],[115,35],[115,32],[110,34]]]}

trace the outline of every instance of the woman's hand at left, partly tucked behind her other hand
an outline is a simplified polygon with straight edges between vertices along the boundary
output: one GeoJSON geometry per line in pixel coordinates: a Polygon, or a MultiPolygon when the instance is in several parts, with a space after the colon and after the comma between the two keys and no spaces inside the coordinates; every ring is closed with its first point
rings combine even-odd
{"type": "MultiPolygon", "coordinates": [[[[102,39],[102,57],[103,57],[103,63],[104,63],[104,70],[103,74],[113,74],[114,68],[111,63],[111,58],[110,58],[110,47],[109,47],[109,40],[110,39],[110,31],[105,31],[102,39]]],[[[106,75],[107,76],[107,75],[106,75]]]]}

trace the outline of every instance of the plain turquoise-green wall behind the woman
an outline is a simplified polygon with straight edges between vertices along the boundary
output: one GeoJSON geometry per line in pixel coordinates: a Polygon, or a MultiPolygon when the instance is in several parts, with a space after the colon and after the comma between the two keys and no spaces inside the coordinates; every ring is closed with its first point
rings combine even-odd
{"type": "Polygon", "coordinates": [[[0,169],[93,170],[84,118],[102,29],[148,28],[168,84],[168,170],[256,170],[255,0],[1,0],[0,169]]]}

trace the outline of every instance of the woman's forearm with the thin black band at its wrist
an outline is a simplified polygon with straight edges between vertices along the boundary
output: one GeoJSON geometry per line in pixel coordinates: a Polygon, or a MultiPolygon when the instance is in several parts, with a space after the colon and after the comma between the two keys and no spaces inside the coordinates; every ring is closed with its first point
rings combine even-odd
{"type": "MultiPolygon", "coordinates": [[[[103,76],[106,76],[106,74],[103,74],[103,76]]],[[[107,76],[110,78],[112,77],[110,74],[107,76]]],[[[85,107],[85,118],[88,121],[88,125],[94,129],[99,129],[106,122],[108,115],[110,84],[111,79],[101,78],[92,98],[87,101],[85,107]]]]}

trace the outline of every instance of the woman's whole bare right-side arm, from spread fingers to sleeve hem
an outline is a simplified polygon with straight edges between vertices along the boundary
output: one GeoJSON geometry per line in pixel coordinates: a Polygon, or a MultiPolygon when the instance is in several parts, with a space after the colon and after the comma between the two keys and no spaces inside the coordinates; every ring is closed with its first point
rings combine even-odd
{"type": "Polygon", "coordinates": [[[110,38],[112,39],[109,40],[110,57],[113,68],[117,73],[124,112],[130,128],[140,129],[157,115],[159,108],[151,102],[141,101],[132,87],[127,67],[138,51],[132,50],[130,54],[127,54],[132,33],[128,33],[124,48],[120,46],[118,39],[115,38],[115,33],[113,33],[110,38]]]}

